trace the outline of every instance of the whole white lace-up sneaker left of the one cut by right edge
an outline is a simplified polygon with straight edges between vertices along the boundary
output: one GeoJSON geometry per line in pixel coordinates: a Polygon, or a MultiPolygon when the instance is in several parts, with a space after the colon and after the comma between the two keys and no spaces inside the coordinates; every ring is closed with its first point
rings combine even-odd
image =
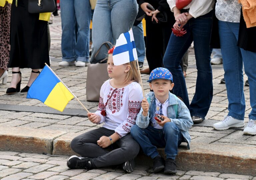
{"type": "Polygon", "coordinates": [[[244,127],[244,120],[238,120],[231,116],[224,116],[221,122],[213,124],[213,128],[216,130],[225,130],[231,127],[244,127]]]}

